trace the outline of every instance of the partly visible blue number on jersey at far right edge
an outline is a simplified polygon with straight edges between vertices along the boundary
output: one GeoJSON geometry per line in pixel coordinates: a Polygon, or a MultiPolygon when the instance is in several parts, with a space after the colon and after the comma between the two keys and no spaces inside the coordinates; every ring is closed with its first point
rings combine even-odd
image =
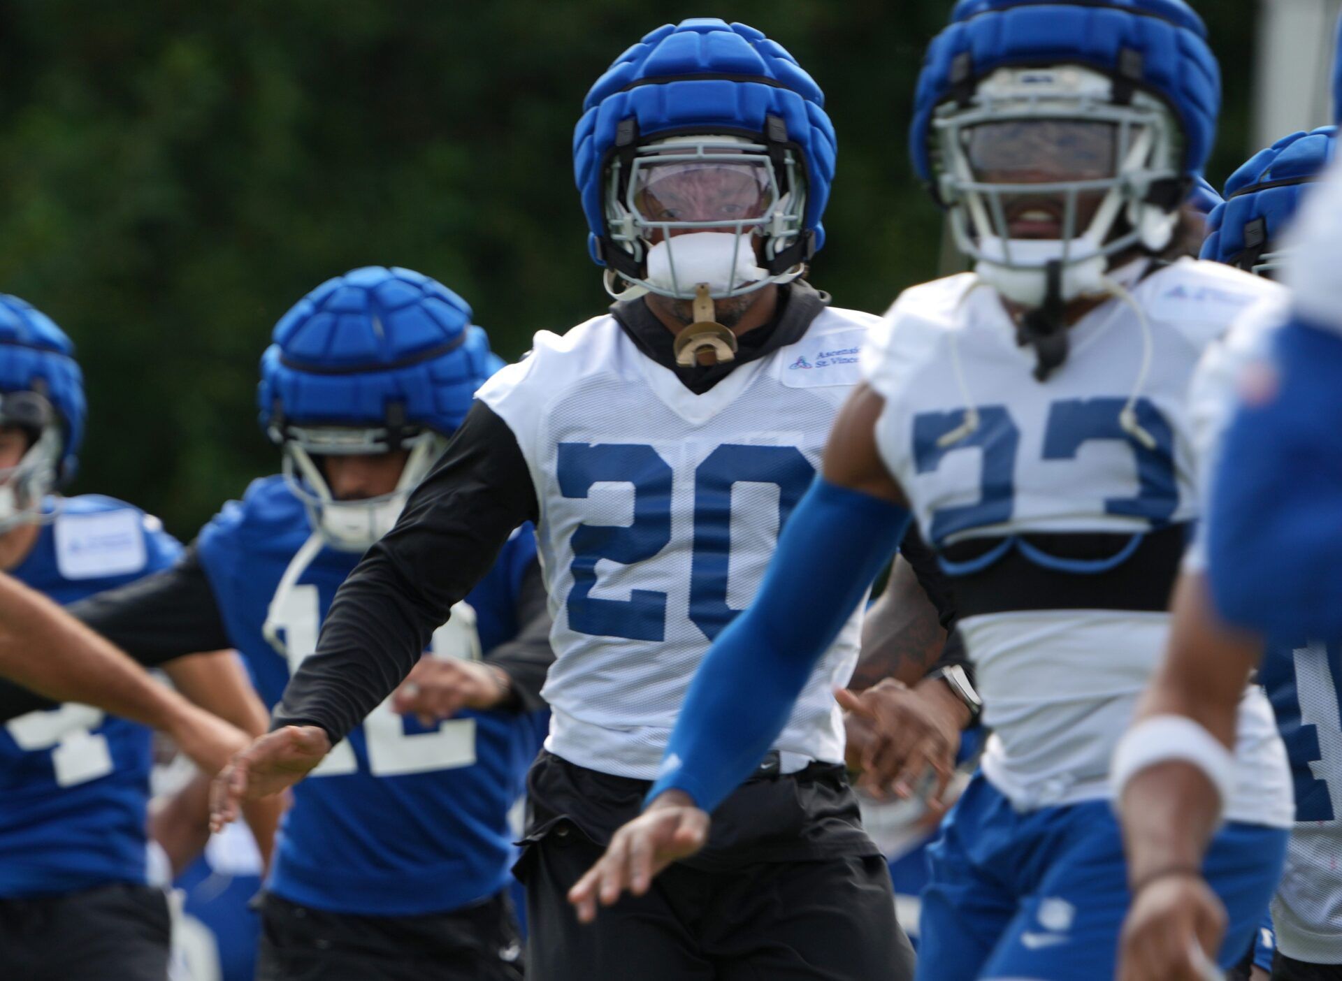
{"type": "Polygon", "coordinates": [[[1342,817],[1342,646],[1272,646],[1259,667],[1259,683],[1276,714],[1291,776],[1295,820],[1342,817]]]}

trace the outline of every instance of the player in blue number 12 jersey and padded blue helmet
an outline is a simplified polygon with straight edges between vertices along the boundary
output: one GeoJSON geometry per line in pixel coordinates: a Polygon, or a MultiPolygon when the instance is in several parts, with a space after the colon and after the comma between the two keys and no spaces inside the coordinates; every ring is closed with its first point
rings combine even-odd
{"type": "MultiPolygon", "coordinates": [[[[283,472],[225,505],[172,569],[76,615],[149,664],[232,646],[278,702],[337,588],[499,366],[470,318],[405,268],[307,294],[262,358],[260,419],[283,472]]],[[[553,660],[522,523],[425,636],[432,656],[295,792],[260,900],[259,981],[521,976],[507,812],[553,660]]]]}

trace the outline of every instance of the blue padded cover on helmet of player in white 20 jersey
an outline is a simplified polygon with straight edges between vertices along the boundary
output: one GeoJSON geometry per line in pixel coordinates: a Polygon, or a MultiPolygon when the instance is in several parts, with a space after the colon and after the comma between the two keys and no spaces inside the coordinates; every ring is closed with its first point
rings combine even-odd
{"type": "Polygon", "coordinates": [[[766,117],[778,117],[805,164],[804,228],[820,248],[837,150],[824,102],[797,60],[753,27],[695,17],[644,35],[588,91],[573,132],[573,174],[592,258],[604,264],[596,252],[596,240],[607,235],[603,170],[625,119],[636,122],[639,141],[648,141],[694,132],[762,137],[766,117]]]}

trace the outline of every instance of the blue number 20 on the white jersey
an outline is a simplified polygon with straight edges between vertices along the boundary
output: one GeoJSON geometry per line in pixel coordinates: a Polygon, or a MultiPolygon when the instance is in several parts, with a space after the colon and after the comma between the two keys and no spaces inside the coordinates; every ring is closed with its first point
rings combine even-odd
{"type": "MultiPolygon", "coordinates": [[[[629,525],[584,523],[573,533],[569,627],[603,637],[660,641],[666,636],[666,593],[632,589],[628,600],[596,599],[590,593],[603,558],[633,565],[654,558],[671,542],[671,464],[641,443],[560,443],[556,475],[566,498],[585,498],[595,483],[633,487],[629,525]]],[[[733,486],[774,484],[782,527],[813,476],[815,468],[800,450],[780,446],[723,444],[695,468],[690,620],[709,640],[739,612],[727,605],[733,486]]]]}

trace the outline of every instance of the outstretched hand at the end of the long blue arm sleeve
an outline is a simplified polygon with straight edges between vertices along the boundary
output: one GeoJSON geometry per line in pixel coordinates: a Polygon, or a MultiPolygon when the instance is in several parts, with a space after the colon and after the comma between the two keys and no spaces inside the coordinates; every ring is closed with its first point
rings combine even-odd
{"type": "Polygon", "coordinates": [[[667,790],[658,796],[647,811],[615,832],[605,855],[569,890],[578,921],[590,923],[597,902],[615,906],[625,890],[641,896],[652,886],[652,876],[694,855],[707,840],[709,815],[688,794],[667,790]]]}

